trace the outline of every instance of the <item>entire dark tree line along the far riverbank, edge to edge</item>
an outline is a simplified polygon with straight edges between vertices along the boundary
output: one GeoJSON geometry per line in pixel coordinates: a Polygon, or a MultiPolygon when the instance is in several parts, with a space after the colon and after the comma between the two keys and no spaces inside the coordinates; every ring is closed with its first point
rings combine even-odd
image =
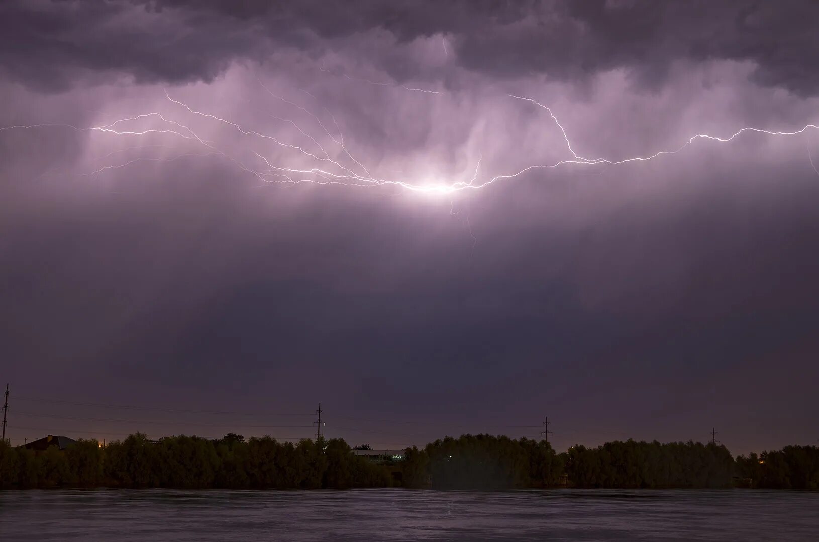
{"type": "MultiPolygon", "coordinates": [[[[367,445],[355,446],[369,449],[367,445]]],[[[375,464],[342,439],[279,442],[230,433],[224,438],[136,433],[105,447],[80,440],[60,451],[0,443],[0,487],[109,486],[174,488],[436,489],[726,488],[819,490],[819,448],[734,458],[700,442],[612,441],[556,452],[549,442],[492,435],[446,437],[405,450],[405,459],[375,464]]]]}

